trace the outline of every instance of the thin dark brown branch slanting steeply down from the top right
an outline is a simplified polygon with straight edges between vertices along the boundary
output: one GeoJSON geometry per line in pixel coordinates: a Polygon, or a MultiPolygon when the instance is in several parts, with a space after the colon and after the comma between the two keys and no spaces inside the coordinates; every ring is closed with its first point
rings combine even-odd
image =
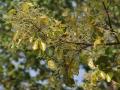
{"type": "Polygon", "coordinates": [[[115,39],[117,40],[117,42],[119,42],[119,39],[118,39],[117,35],[115,34],[115,31],[113,30],[113,27],[112,27],[112,24],[111,24],[111,18],[110,18],[108,9],[107,9],[107,7],[106,7],[106,5],[105,5],[105,2],[102,1],[102,4],[103,4],[104,10],[105,10],[106,15],[107,15],[107,19],[108,19],[108,24],[109,24],[109,27],[110,27],[110,31],[111,31],[112,34],[114,35],[114,37],[115,37],[115,39]]]}

